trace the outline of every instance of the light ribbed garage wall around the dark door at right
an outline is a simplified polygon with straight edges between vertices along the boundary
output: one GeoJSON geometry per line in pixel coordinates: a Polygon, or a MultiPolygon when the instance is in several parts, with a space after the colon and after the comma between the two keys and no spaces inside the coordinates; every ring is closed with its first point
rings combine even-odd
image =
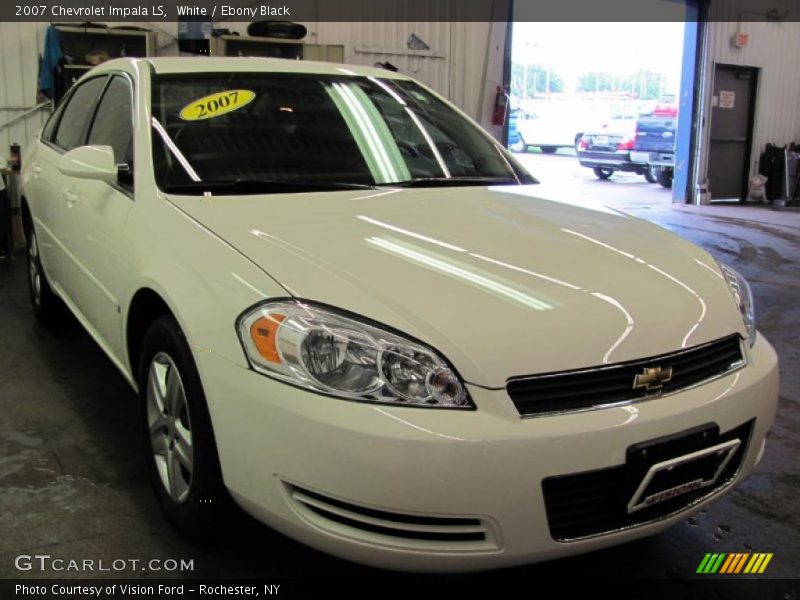
{"type": "MultiPolygon", "coordinates": [[[[755,127],[751,152],[751,175],[767,142],[779,145],[800,141],[800,5],[795,0],[726,0],[711,5],[704,68],[707,73],[702,101],[702,146],[698,164],[699,180],[708,169],[709,123],[714,64],[759,67],[755,127]],[[782,20],[769,20],[765,11],[775,9],[782,20]],[[741,29],[749,34],[745,48],[731,43],[741,29]]],[[[710,182],[713,187],[713,182],[710,182]]]]}

